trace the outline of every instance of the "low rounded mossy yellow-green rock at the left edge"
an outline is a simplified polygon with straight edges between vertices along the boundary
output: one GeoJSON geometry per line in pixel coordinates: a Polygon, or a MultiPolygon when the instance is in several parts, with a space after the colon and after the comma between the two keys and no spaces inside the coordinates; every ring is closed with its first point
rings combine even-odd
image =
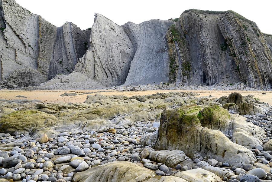
{"type": "Polygon", "coordinates": [[[0,132],[13,133],[14,131],[29,131],[32,127],[44,125],[44,121],[58,119],[50,114],[36,110],[20,110],[3,115],[0,118],[0,132]]]}

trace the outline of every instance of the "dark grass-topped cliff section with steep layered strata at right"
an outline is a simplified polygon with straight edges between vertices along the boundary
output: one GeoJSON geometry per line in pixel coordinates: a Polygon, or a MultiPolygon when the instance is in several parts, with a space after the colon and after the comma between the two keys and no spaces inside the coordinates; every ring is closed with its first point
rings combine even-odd
{"type": "Polygon", "coordinates": [[[207,85],[241,80],[271,89],[267,39],[254,22],[235,12],[187,10],[167,32],[170,78],[176,84],[207,85]]]}

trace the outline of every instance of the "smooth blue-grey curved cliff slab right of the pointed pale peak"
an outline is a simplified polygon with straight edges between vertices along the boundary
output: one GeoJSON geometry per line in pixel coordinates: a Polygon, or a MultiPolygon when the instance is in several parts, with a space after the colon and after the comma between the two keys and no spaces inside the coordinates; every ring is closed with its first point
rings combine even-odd
{"type": "Polygon", "coordinates": [[[135,53],[125,84],[148,84],[168,81],[168,53],[165,34],[173,21],[150,20],[126,23],[125,32],[135,53]]]}

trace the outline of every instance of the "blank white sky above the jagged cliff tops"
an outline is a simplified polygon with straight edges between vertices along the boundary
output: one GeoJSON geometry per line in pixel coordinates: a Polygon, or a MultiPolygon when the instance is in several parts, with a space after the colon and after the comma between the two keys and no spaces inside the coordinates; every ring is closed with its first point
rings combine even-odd
{"type": "Polygon", "coordinates": [[[244,0],[17,0],[32,13],[56,26],[73,22],[81,29],[92,27],[94,13],[100,13],[118,25],[141,23],[150,19],[178,18],[186,9],[233,10],[255,22],[264,33],[272,34],[272,1],[244,0]]]}

